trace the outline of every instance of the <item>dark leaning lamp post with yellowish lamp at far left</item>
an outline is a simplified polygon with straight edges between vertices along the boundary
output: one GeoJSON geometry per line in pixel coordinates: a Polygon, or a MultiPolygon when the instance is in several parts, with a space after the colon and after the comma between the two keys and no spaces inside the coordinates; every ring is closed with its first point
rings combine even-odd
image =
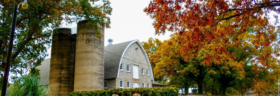
{"type": "MultiPolygon", "coordinates": [[[[24,2],[21,2],[20,4],[23,9],[27,9],[27,7],[28,7],[27,0],[24,0],[24,2]]],[[[20,5],[20,4],[18,4],[18,5],[20,5]]],[[[12,55],[12,49],[13,49],[13,43],[14,43],[14,31],[16,28],[18,8],[19,8],[19,6],[17,6],[17,4],[14,4],[14,14],[13,14],[13,20],[12,20],[12,26],[11,26],[11,33],[10,33],[7,59],[6,59],[6,64],[5,64],[1,96],[6,96],[6,92],[7,92],[8,77],[9,77],[10,64],[11,64],[11,55],[12,55]]]]}

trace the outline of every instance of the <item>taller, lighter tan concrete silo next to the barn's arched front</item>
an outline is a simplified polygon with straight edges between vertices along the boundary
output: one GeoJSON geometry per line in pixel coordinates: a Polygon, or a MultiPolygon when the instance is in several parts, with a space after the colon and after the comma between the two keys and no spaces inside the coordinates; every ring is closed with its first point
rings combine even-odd
{"type": "Polygon", "coordinates": [[[77,23],[74,91],[104,89],[104,26],[97,27],[101,39],[96,37],[95,29],[87,20],[77,23]]]}

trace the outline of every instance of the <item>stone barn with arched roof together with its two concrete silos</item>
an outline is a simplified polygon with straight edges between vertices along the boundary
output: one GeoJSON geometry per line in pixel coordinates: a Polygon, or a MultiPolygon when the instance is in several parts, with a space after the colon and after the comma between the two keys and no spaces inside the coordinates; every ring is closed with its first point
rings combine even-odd
{"type": "MultiPolygon", "coordinates": [[[[54,30],[51,58],[37,68],[42,85],[49,94],[65,96],[72,91],[92,91],[111,88],[152,87],[153,71],[148,56],[138,40],[104,46],[104,27],[87,20],[73,29],[54,30]]],[[[159,83],[156,82],[156,85],[159,83]]]]}

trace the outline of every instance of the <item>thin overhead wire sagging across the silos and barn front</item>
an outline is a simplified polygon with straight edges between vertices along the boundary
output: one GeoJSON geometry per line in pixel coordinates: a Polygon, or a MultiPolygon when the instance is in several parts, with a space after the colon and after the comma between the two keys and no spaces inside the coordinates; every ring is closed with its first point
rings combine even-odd
{"type": "MultiPolygon", "coordinates": [[[[22,13],[22,12],[21,12],[21,13],[22,13]]],[[[23,13],[23,14],[24,14],[24,13],[23,13]]],[[[26,15],[26,14],[24,14],[24,15],[26,15]]],[[[29,15],[26,15],[26,16],[29,16],[29,15]]],[[[29,17],[31,17],[31,16],[29,16],[29,17]]],[[[35,19],[35,18],[33,18],[33,17],[31,17],[31,18],[32,18],[32,19],[35,19]]],[[[37,19],[35,19],[35,20],[37,20],[37,19]]],[[[37,20],[37,21],[39,21],[39,20],[37,20]]],[[[39,21],[39,22],[40,22],[40,21],[39,21]]],[[[58,29],[55,28],[54,30],[58,30],[58,29]]],[[[58,30],[58,31],[60,31],[60,30],[58,30]]],[[[60,31],[60,32],[62,32],[62,31],[60,31]]],[[[62,32],[62,33],[64,33],[64,32],[62,32]]],[[[64,34],[69,35],[69,34],[67,34],[67,33],[64,33],[64,34]]],[[[78,38],[76,38],[76,37],[73,37],[73,36],[71,36],[71,35],[69,35],[69,36],[72,37],[72,38],[75,38],[76,40],[82,41],[82,40],[80,40],[80,39],[78,39],[78,38]]],[[[86,43],[85,41],[82,41],[82,42],[86,43]]],[[[89,44],[89,43],[86,43],[86,44],[89,44]]],[[[95,48],[101,49],[101,48],[99,48],[99,47],[97,47],[97,46],[94,46],[94,45],[92,45],[92,44],[89,44],[89,45],[91,45],[91,46],[93,46],[93,47],[95,47],[95,48]]],[[[103,50],[103,51],[105,51],[105,52],[108,52],[108,53],[110,53],[110,54],[116,55],[116,54],[114,54],[114,53],[112,53],[112,52],[109,52],[109,51],[106,51],[106,50],[104,50],[104,49],[101,49],[101,50],[103,50]]],[[[122,57],[122,56],[119,56],[119,55],[116,55],[116,56],[118,56],[118,57],[120,57],[120,58],[127,59],[127,60],[129,60],[129,61],[133,61],[133,60],[130,60],[130,59],[128,59],[128,58],[125,58],[125,57],[122,57]]],[[[140,63],[140,62],[137,62],[137,61],[133,61],[133,62],[136,62],[136,63],[139,63],[139,64],[143,64],[143,63],[140,63]]],[[[147,64],[144,64],[144,65],[147,65],[147,64]]],[[[151,66],[151,65],[147,65],[147,66],[151,66]]],[[[155,66],[151,66],[151,67],[155,67],[155,66]]],[[[161,67],[157,67],[157,68],[161,68],[161,67]]],[[[167,69],[167,68],[161,68],[161,69],[167,69]]],[[[183,69],[167,69],[167,70],[183,70],[183,69]]]]}

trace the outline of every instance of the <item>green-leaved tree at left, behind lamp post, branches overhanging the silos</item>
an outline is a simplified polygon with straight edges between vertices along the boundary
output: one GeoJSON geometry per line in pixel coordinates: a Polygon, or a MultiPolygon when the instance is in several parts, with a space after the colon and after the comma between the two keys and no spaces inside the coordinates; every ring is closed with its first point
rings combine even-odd
{"type": "MultiPolygon", "coordinates": [[[[0,3],[0,71],[1,80],[10,38],[13,4],[23,0],[4,0],[0,3]]],[[[110,28],[112,8],[109,0],[39,0],[28,1],[28,9],[19,9],[11,59],[11,73],[22,74],[40,65],[50,47],[52,30],[67,23],[88,19],[110,28]]],[[[2,83],[2,81],[0,81],[2,83]]],[[[2,85],[2,84],[0,84],[2,85]]]]}

